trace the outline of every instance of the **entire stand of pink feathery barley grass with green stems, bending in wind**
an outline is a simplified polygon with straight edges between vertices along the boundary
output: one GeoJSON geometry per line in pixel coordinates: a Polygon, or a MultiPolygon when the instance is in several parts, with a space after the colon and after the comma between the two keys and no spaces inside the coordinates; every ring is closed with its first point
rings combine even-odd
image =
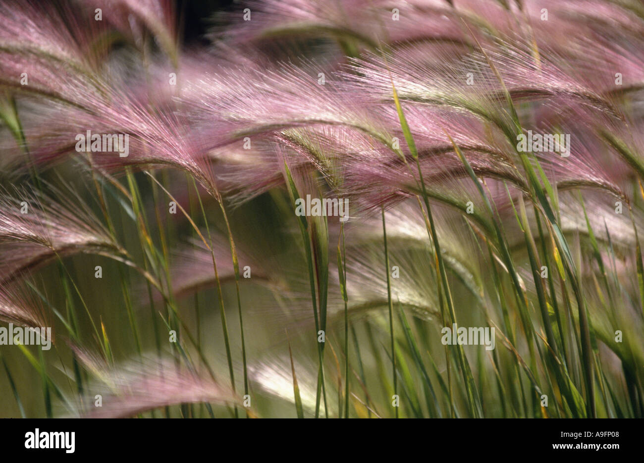
{"type": "Polygon", "coordinates": [[[644,415],[641,2],[181,5],[0,4],[3,416],[644,415]]]}

